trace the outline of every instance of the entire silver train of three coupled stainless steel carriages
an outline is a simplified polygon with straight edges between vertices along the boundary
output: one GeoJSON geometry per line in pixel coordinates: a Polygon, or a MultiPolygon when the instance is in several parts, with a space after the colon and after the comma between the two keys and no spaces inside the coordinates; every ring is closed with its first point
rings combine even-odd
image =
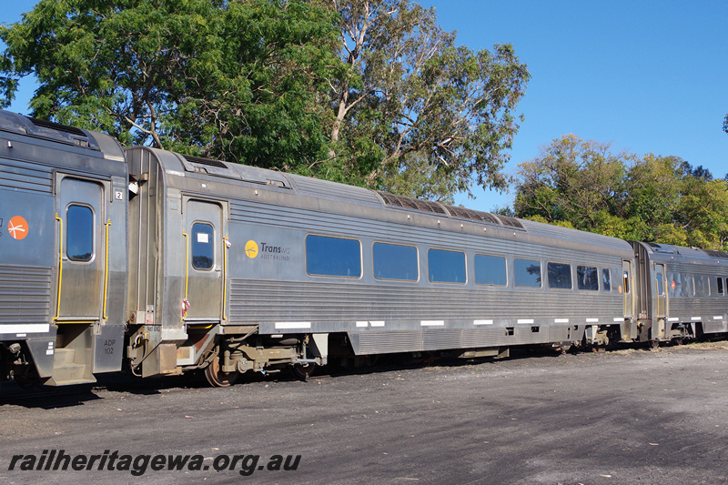
{"type": "Polygon", "coordinates": [[[125,153],[108,136],[8,112],[0,144],[0,379],[88,382],[124,364],[143,377],[205,369],[225,386],[331,359],[728,329],[728,259],[700,251],[125,153]],[[682,291],[691,276],[703,284],[696,275],[713,278],[710,306],[682,291]],[[662,294],[667,278],[674,294],[662,294]],[[674,317],[673,300],[684,308],[674,317]]]}

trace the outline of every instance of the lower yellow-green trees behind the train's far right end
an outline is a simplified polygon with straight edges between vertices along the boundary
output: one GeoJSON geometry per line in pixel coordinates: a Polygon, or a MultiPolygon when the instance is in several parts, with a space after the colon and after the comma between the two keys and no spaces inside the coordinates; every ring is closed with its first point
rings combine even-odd
{"type": "Polygon", "coordinates": [[[562,136],[520,166],[515,215],[622,239],[728,249],[728,182],[679,157],[562,136]]]}

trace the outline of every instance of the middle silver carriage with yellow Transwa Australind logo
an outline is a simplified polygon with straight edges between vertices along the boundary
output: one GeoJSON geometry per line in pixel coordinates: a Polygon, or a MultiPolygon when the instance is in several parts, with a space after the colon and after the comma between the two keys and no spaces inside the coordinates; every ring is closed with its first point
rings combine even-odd
{"type": "Polygon", "coordinates": [[[141,375],[636,338],[629,243],[150,149],[126,152],[141,375]],[[625,275],[622,277],[622,275],[625,275]]]}

